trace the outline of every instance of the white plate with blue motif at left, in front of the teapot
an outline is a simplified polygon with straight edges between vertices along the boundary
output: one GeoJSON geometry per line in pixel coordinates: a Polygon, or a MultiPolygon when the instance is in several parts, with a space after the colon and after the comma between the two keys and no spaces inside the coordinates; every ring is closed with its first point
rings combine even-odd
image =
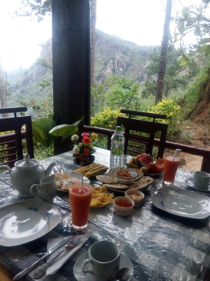
{"type": "Polygon", "coordinates": [[[61,220],[59,211],[49,203],[28,199],[0,209],[0,245],[17,246],[52,230],[61,220]]]}

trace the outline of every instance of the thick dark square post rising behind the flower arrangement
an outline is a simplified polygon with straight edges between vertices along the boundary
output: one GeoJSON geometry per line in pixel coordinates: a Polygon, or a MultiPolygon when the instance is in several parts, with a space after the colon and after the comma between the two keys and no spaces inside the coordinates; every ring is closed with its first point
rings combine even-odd
{"type": "MultiPolygon", "coordinates": [[[[86,115],[90,106],[90,82],[86,81],[90,77],[86,74],[90,65],[86,61],[90,60],[86,57],[90,20],[87,5],[87,0],[52,0],[53,103],[59,124],[72,124],[86,115]]],[[[68,150],[68,140],[62,145],[56,141],[55,154],[68,150]]]]}

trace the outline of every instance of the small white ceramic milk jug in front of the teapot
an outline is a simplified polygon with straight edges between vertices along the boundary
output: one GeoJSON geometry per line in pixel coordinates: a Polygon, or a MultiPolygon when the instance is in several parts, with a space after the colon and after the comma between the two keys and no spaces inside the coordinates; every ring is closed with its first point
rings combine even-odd
{"type": "Polygon", "coordinates": [[[31,186],[30,193],[34,196],[38,196],[39,199],[52,203],[57,190],[55,178],[56,175],[50,175],[49,177],[41,179],[38,185],[35,184],[31,186]]]}

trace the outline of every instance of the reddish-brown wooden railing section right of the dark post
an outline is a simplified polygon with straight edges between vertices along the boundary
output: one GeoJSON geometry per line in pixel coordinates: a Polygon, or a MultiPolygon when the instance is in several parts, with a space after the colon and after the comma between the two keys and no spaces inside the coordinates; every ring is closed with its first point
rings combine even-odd
{"type": "MultiPolygon", "coordinates": [[[[111,136],[114,134],[114,130],[108,130],[104,128],[98,128],[98,127],[92,127],[92,126],[84,126],[84,130],[88,132],[95,132],[97,134],[102,134],[107,136],[107,149],[110,150],[111,148],[111,136]]],[[[143,136],[134,136],[133,140],[136,141],[146,141],[143,136]]],[[[160,140],[155,139],[154,145],[159,146],[160,140]]],[[[175,150],[175,149],[181,149],[182,152],[203,156],[203,161],[201,165],[201,171],[210,173],[210,150],[203,149],[203,148],[197,148],[189,145],[184,145],[180,143],[175,143],[171,141],[166,141],[165,148],[175,150]]]]}

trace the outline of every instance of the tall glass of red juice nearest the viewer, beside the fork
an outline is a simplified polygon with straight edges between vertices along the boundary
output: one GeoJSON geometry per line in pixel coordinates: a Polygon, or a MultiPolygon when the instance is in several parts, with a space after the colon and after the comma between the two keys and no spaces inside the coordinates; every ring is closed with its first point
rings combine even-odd
{"type": "Polygon", "coordinates": [[[72,211],[72,228],[84,230],[87,228],[88,213],[91,205],[92,186],[84,183],[84,191],[80,183],[69,188],[69,201],[72,211]]]}

